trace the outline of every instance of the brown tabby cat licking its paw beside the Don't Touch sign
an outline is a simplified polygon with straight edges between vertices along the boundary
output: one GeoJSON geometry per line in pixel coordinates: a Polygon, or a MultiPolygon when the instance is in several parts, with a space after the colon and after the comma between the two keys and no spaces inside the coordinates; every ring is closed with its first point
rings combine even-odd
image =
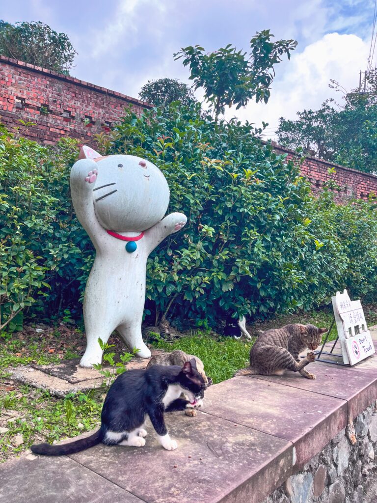
{"type": "Polygon", "coordinates": [[[304,368],[314,362],[314,353],[308,353],[304,359],[299,359],[299,354],[307,348],[317,349],[325,332],[327,328],[299,323],[266,330],[250,350],[250,367],[236,375],[282,375],[285,370],[292,370],[308,379],[315,379],[316,376],[304,368]]]}

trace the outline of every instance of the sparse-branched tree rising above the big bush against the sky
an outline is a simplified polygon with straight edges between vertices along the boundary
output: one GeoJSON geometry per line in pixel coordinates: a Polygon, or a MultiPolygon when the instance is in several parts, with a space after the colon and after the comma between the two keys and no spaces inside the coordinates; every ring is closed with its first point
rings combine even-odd
{"type": "Polygon", "coordinates": [[[211,53],[199,45],[189,46],[174,54],[190,66],[194,89],[204,88],[205,98],[215,108],[215,120],[226,106],[245,107],[252,98],[267,103],[274,65],[284,54],[290,59],[290,51],[297,46],[295,40],[271,42],[272,37],[269,30],[257,33],[250,40],[250,54],[237,51],[232,44],[211,53]]]}

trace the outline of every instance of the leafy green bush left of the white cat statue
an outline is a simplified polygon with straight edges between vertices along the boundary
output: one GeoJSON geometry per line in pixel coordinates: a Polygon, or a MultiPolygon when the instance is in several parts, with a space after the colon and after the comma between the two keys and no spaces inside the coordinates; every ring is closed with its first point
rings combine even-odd
{"type": "MultiPolygon", "coordinates": [[[[52,150],[0,128],[0,327],[22,326],[25,307],[46,315],[70,302],[89,239],[74,219],[69,169],[76,140],[52,150]],[[76,246],[80,244],[80,247],[76,246]]],[[[72,298],[73,297],[73,298],[72,298]]]]}

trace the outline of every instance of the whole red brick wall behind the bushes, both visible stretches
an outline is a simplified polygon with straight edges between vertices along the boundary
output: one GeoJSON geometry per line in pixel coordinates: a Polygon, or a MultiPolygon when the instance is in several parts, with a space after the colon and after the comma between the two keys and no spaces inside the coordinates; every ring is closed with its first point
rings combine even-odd
{"type": "MultiPolygon", "coordinates": [[[[41,143],[55,144],[67,135],[95,146],[92,135],[109,131],[122,117],[124,107],[132,106],[139,112],[150,108],[148,103],[116,91],[4,56],[0,56],[0,88],[1,122],[9,129],[19,125],[18,119],[36,123],[25,135],[41,143]],[[85,118],[90,121],[88,125],[85,118]]],[[[292,150],[276,144],[274,148],[289,158],[296,157],[292,150]]],[[[377,194],[376,176],[328,161],[307,157],[301,173],[311,182],[314,193],[332,178],[340,186],[336,195],[339,202],[377,194]],[[328,174],[330,167],[335,167],[336,174],[328,174]]]]}

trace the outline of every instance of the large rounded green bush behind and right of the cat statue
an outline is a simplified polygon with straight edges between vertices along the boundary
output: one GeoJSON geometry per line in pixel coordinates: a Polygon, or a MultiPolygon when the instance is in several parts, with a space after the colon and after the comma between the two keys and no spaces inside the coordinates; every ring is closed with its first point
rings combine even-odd
{"type": "MultiPolygon", "coordinates": [[[[312,224],[316,211],[299,165],[277,155],[250,124],[203,119],[200,108],[129,112],[102,144],[148,158],[171,191],[185,228],[155,250],[147,298],[160,314],[267,316],[328,301],[346,270],[339,239],[312,224]],[[315,233],[314,233],[315,231],[315,233]]],[[[100,138],[104,140],[104,137],[100,138]]],[[[318,217],[321,221],[322,217],[318,217]]]]}

